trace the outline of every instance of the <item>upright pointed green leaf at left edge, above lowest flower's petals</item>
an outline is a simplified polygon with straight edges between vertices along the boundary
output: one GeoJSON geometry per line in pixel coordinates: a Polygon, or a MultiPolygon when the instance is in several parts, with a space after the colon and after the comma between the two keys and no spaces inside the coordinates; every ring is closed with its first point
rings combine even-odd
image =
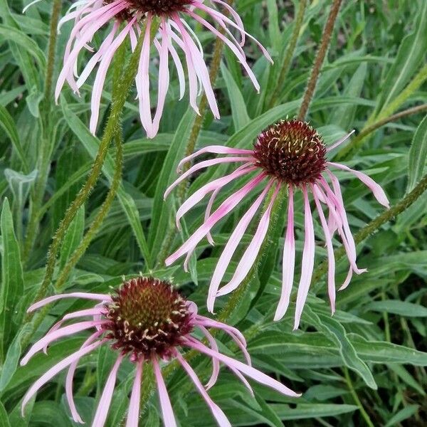
{"type": "Polygon", "coordinates": [[[0,289],[0,357],[4,360],[6,345],[14,332],[14,309],[23,295],[23,273],[19,244],[14,231],[9,200],[4,199],[0,218],[3,252],[1,253],[0,289]]]}

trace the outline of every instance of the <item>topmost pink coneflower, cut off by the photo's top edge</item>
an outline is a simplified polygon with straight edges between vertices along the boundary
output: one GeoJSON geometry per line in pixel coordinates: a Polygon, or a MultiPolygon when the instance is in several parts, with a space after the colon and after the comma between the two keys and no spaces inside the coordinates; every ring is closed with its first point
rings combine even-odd
{"type": "Polygon", "coordinates": [[[132,50],[135,49],[137,38],[142,32],[142,23],[147,23],[145,27],[144,42],[142,45],[142,53],[139,59],[139,69],[136,77],[137,97],[139,99],[139,112],[141,122],[144,129],[147,131],[147,136],[154,137],[159,130],[159,122],[162,117],[164,102],[169,88],[169,54],[174,61],[176,72],[179,78],[180,99],[185,92],[185,76],[181,58],[176,51],[176,47],[181,49],[185,56],[186,68],[189,80],[189,102],[191,107],[199,113],[196,97],[199,89],[204,89],[206,97],[216,118],[219,117],[218,106],[214,90],[209,80],[209,72],[204,61],[204,52],[201,47],[199,38],[191,29],[189,23],[184,19],[187,17],[195,22],[201,23],[206,29],[211,31],[214,36],[221,38],[226,45],[231,48],[231,51],[236,55],[239,62],[245,68],[249,78],[251,78],[256,90],[259,91],[260,86],[255,78],[251,68],[246,61],[246,55],[243,51],[245,37],[248,36],[258,44],[264,55],[271,60],[268,52],[261,46],[258,41],[251,35],[246,33],[243,22],[236,11],[228,6],[222,0],[81,0],[77,1],[68,14],[62,19],[60,25],[65,21],[74,20],[75,25],[71,31],[70,38],[65,48],[65,56],[63,69],[58,78],[56,85],[56,99],[58,100],[60,90],[63,87],[65,80],[70,87],[79,93],[80,87],[88,79],[88,76],[99,63],[96,73],[95,83],[92,93],[92,116],[90,118],[90,131],[95,133],[100,100],[102,95],[102,87],[105,82],[105,75],[110,67],[112,58],[117,51],[117,48],[124,43],[126,38],[130,39],[132,50]],[[211,4],[208,6],[206,3],[211,4]],[[215,5],[219,5],[226,9],[231,16],[231,19],[220,11],[215,9],[215,5]],[[202,16],[203,15],[203,16],[202,16]],[[150,63],[150,31],[154,17],[159,19],[159,30],[157,37],[154,38],[154,47],[159,55],[159,74],[158,74],[158,92],[157,92],[157,109],[152,118],[150,90],[149,90],[149,63],[150,63]],[[218,25],[226,32],[226,36],[220,33],[212,23],[206,21],[204,16],[211,19],[214,25],[218,25]],[[92,41],[95,33],[107,23],[113,22],[110,33],[105,37],[100,48],[90,58],[83,72],[75,80],[77,75],[78,55],[83,48],[93,51],[88,43],[92,41]],[[232,29],[240,35],[241,40],[238,41],[232,29]]]}

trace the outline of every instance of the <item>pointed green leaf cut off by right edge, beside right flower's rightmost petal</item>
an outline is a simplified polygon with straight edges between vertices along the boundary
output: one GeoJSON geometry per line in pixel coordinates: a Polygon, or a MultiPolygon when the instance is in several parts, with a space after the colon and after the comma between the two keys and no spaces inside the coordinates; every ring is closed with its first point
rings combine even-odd
{"type": "Polygon", "coordinates": [[[408,187],[407,192],[413,190],[423,176],[427,159],[427,116],[418,125],[413,135],[411,149],[408,156],[408,187]]]}

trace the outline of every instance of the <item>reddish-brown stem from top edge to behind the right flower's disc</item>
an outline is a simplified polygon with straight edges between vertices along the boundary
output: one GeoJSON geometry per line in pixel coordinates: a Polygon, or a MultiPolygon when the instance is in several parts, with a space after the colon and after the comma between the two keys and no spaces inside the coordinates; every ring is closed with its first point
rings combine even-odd
{"type": "Polygon", "coordinates": [[[298,113],[298,120],[305,120],[305,115],[307,115],[308,107],[310,107],[310,102],[315,93],[317,79],[319,78],[320,69],[322,68],[323,61],[329,47],[331,40],[332,31],[334,29],[334,23],[337,19],[339,6],[341,6],[342,0],[334,0],[330,14],[327,17],[325,24],[325,29],[323,30],[322,41],[320,43],[319,50],[317,51],[315,65],[313,65],[312,73],[310,75],[310,80],[308,81],[307,88],[305,89],[304,98],[302,99],[302,104],[300,112],[298,113]]]}

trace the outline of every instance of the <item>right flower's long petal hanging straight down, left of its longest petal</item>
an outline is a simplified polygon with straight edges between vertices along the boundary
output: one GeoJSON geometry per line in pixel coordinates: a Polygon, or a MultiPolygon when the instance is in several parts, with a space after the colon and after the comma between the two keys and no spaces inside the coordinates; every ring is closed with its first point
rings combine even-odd
{"type": "Polygon", "coordinates": [[[288,191],[288,226],[286,228],[285,246],[283,246],[283,279],[282,292],[274,320],[282,319],[288,310],[290,293],[295,270],[295,236],[294,236],[294,207],[293,207],[293,186],[290,184],[288,191]]]}

